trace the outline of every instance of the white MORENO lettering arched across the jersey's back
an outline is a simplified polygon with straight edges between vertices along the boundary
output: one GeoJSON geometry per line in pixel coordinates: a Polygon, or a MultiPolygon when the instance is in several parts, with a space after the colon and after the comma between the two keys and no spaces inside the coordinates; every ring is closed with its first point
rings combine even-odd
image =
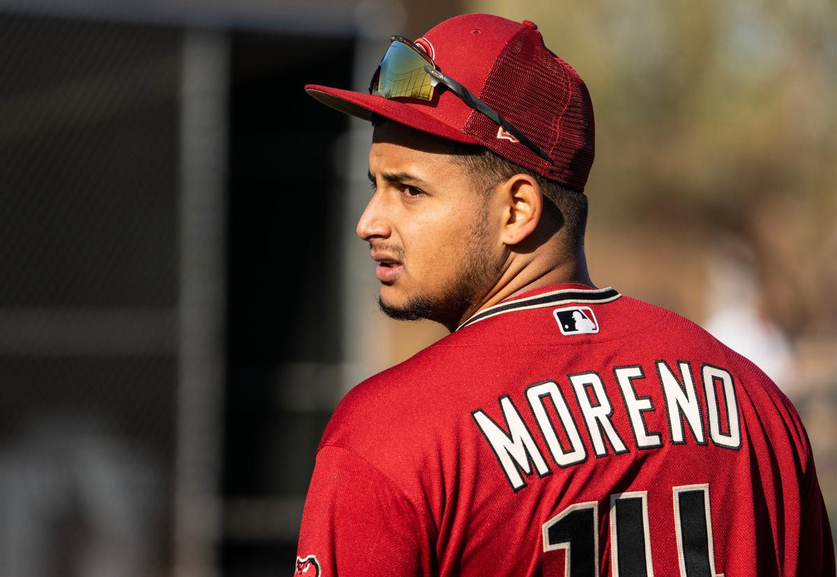
{"type": "Polygon", "coordinates": [[[505,426],[498,425],[483,409],[476,409],[471,415],[513,491],[526,487],[523,474],[531,475],[533,466],[539,477],[545,477],[552,472],[551,466],[568,467],[587,461],[590,454],[582,441],[582,430],[595,457],[619,455],[631,448],[659,449],[664,442],[704,446],[711,442],[731,450],[740,449],[735,378],[727,369],[708,363],[702,363],[697,374],[693,374],[691,365],[680,361],[672,367],[657,361],[652,368],[640,364],[614,367],[610,375],[595,371],[568,374],[568,387],[547,380],[527,386],[517,401],[508,394],[502,396],[498,414],[505,426]],[[617,386],[606,387],[604,379],[613,379],[617,386]],[[639,394],[640,382],[643,389],[653,387],[662,403],[655,404],[653,396],[639,394]],[[572,390],[572,398],[567,399],[570,395],[562,389],[572,390]],[[608,389],[618,389],[620,398],[610,399],[608,389]],[[521,418],[524,406],[522,410],[531,411],[537,423],[550,462],[521,418]],[[627,423],[629,430],[619,430],[614,425],[614,411],[624,412],[627,419],[621,421],[627,423]],[[665,413],[668,430],[650,430],[646,425],[644,413],[654,411],[665,413]]]}

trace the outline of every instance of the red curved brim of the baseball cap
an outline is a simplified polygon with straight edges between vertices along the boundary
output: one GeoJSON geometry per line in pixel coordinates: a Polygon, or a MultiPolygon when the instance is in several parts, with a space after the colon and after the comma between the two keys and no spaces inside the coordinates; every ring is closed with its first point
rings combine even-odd
{"type": "Polygon", "coordinates": [[[423,108],[432,111],[429,105],[416,105],[408,102],[390,100],[383,96],[363,94],[352,90],[341,90],[330,86],[306,85],[306,92],[326,106],[341,111],[351,116],[357,116],[365,121],[372,120],[372,114],[385,116],[392,121],[415,128],[416,130],[428,132],[437,137],[447,138],[455,142],[465,144],[479,144],[480,141],[474,137],[460,132],[455,126],[440,121],[435,116],[422,110],[423,108]]]}

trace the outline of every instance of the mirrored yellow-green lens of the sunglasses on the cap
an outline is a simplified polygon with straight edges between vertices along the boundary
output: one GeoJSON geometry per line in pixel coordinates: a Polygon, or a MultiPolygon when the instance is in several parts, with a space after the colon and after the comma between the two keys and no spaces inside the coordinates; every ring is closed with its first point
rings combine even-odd
{"type": "Polygon", "coordinates": [[[406,44],[393,42],[381,60],[375,92],[384,98],[431,100],[433,86],[425,64],[428,61],[406,44]]]}

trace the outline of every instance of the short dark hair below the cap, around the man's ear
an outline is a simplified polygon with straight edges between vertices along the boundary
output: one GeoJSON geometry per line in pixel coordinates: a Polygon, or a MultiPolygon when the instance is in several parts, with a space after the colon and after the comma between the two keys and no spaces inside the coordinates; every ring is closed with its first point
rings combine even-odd
{"type": "Polygon", "coordinates": [[[583,192],[533,173],[485,147],[458,145],[454,147],[454,151],[454,162],[465,167],[475,188],[486,193],[505,183],[515,174],[528,174],[535,178],[547,199],[544,203],[547,219],[550,219],[556,228],[564,229],[566,248],[578,250],[583,247],[588,213],[587,196],[583,192]]]}

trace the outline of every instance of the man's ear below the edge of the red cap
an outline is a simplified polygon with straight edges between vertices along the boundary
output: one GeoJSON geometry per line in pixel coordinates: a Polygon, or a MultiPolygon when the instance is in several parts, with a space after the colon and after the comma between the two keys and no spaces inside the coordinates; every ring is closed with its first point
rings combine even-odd
{"type": "Polygon", "coordinates": [[[531,175],[520,173],[501,184],[497,193],[504,203],[501,241],[504,245],[519,245],[535,232],[542,219],[541,185],[531,175]]]}

